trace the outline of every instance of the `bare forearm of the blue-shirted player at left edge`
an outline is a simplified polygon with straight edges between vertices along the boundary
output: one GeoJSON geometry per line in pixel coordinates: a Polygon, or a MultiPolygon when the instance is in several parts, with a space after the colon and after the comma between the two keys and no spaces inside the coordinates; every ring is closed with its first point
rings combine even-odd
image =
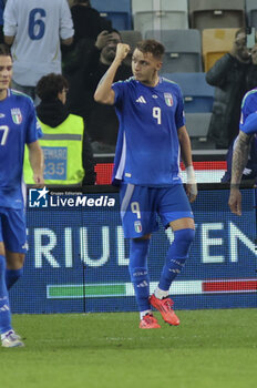
{"type": "Polygon", "coordinates": [[[28,144],[29,160],[37,187],[43,187],[43,151],[38,141],[28,144]]]}

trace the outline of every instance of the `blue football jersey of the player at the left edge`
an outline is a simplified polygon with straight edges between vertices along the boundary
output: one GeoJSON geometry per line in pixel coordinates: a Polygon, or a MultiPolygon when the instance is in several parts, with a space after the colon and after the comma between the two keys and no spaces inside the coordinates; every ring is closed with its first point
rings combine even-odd
{"type": "Polygon", "coordinates": [[[23,207],[24,144],[41,136],[32,100],[8,90],[8,96],[0,101],[0,207],[23,207]]]}

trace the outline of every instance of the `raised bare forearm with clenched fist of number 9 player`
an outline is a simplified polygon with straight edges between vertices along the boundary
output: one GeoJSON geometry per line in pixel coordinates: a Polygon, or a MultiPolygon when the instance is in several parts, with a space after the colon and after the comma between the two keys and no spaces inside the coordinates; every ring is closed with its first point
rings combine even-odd
{"type": "Polygon", "coordinates": [[[115,93],[112,90],[112,84],[119,67],[121,65],[122,61],[126,58],[131,48],[128,44],[117,44],[115,59],[109,68],[109,70],[106,71],[106,73],[104,74],[104,76],[101,79],[94,93],[94,100],[96,102],[101,102],[107,105],[114,104],[115,93]]]}

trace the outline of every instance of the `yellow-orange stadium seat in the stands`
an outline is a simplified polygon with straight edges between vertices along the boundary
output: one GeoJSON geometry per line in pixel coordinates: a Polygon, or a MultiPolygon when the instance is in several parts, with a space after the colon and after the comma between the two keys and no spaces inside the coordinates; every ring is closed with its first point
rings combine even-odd
{"type": "Polygon", "coordinates": [[[204,70],[208,71],[226,52],[232,50],[238,29],[205,29],[202,31],[204,70]]]}

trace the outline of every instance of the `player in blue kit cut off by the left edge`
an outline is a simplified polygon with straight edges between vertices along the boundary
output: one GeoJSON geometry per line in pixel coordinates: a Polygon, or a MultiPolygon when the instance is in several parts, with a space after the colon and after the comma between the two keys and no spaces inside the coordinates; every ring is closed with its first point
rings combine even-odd
{"type": "Polygon", "coordinates": [[[31,99],[9,89],[12,59],[0,44],[0,334],[2,346],[23,346],[11,326],[8,289],[22,274],[27,233],[22,166],[28,144],[35,183],[43,184],[41,130],[31,99]]]}

